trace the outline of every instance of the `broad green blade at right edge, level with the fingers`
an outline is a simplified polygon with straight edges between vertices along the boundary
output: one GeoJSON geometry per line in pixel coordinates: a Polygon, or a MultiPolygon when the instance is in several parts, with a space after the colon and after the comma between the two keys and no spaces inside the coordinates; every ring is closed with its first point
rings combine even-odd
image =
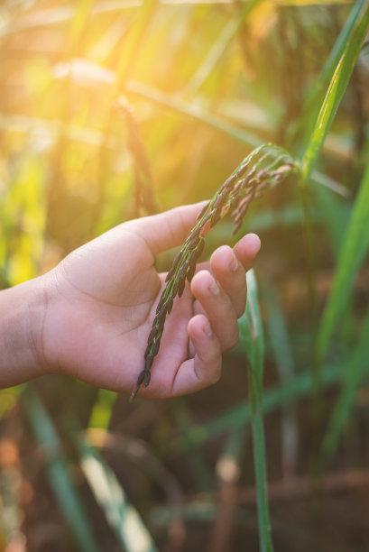
{"type": "Polygon", "coordinates": [[[351,296],[356,272],[369,247],[369,162],[364,172],[349,224],[346,228],[332,289],[318,328],[316,355],[318,360],[327,353],[337,321],[351,296]]]}

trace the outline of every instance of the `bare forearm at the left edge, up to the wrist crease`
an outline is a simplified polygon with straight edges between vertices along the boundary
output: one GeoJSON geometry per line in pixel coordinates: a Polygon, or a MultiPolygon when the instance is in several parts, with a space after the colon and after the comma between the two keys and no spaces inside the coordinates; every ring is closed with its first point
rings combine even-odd
{"type": "Polygon", "coordinates": [[[38,279],[0,291],[0,388],[42,374],[42,311],[38,279]]]}

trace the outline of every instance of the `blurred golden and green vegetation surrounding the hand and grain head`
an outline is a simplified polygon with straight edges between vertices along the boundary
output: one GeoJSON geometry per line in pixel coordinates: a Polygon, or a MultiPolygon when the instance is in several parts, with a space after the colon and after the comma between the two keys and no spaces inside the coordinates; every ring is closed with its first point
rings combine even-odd
{"type": "Polygon", "coordinates": [[[217,386],[133,405],[57,376],[0,391],[0,549],[368,549],[368,25],[365,0],[2,3],[3,287],[210,198],[261,143],[301,177],[246,217],[259,300],[250,273],[217,386]]]}

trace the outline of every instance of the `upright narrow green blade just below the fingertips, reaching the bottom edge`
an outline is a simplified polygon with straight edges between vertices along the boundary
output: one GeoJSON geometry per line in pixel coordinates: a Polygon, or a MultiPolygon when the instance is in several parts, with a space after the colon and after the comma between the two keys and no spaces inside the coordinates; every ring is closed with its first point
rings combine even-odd
{"type": "Polygon", "coordinates": [[[245,349],[248,357],[248,393],[254,443],[254,469],[257,495],[259,539],[262,552],[272,552],[272,530],[267,495],[266,452],[263,428],[263,326],[260,317],[257,284],[254,271],[248,271],[247,305],[245,311],[248,332],[245,349]]]}

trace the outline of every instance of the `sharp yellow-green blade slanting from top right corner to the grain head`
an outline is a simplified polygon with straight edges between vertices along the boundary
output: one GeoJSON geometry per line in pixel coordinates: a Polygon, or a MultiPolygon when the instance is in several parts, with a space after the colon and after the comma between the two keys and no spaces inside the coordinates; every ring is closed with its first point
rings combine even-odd
{"type": "Polygon", "coordinates": [[[303,182],[309,180],[310,172],[317,161],[318,154],[322,148],[327,132],[337,113],[338,106],[345,93],[346,87],[355,68],[357,57],[364,42],[366,32],[369,28],[369,5],[361,14],[355,29],[351,32],[334,75],[327,89],[327,95],[318,114],[317,123],[309,138],[302,158],[301,177],[303,182]]]}

